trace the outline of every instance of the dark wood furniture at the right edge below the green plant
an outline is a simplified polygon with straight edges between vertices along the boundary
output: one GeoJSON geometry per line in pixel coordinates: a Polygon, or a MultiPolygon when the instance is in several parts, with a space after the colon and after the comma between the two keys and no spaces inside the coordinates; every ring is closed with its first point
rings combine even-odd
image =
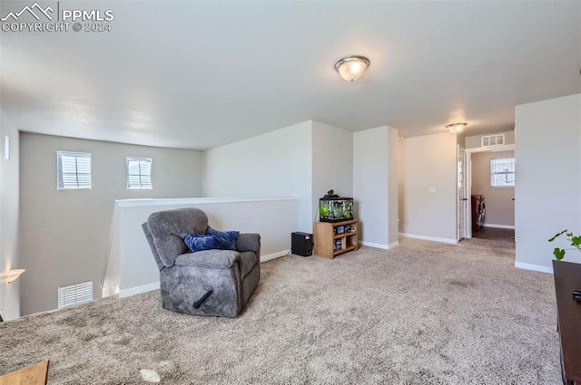
{"type": "Polygon", "coordinates": [[[563,380],[581,385],[581,303],[573,294],[581,291],[581,264],[553,261],[553,272],[563,380]]]}

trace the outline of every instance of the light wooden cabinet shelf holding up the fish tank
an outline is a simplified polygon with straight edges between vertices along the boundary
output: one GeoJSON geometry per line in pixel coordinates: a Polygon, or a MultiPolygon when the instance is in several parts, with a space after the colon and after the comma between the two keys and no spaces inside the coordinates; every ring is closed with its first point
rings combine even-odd
{"type": "Polygon", "coordinates": [[[335,255],[359,248],[357,220],[315,222],[315,255],[334,258],[335,255]]]}

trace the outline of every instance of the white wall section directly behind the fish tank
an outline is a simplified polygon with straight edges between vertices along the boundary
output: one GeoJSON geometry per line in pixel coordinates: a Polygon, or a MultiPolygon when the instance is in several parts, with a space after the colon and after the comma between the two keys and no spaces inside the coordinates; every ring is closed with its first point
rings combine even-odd
{"type": "Polygon", "coordinates": [[[312,121],[311,222],[319,220],[319,198],[330,189],[353,196],[353,133],[312,121]]]}

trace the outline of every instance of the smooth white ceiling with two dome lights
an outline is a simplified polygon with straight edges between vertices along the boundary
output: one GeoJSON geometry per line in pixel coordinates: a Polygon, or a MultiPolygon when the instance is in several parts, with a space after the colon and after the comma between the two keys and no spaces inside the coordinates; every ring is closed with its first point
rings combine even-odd
{"type": "Polygon", "coordinates": [[[185,149],[304,120],[472,135],[581,91],[580,1],[60,3],[113,9],[112,32],[0,33],[20,130],[185,149]],[[350,54],[371,62],[352,84],[333,69],[350,54]]]}

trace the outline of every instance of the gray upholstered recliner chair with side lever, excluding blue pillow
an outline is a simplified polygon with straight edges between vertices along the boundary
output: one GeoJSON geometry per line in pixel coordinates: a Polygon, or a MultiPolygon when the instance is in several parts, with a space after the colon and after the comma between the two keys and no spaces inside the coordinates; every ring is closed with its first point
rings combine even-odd
{"type": "Polygon", "coordinates": [[[153,213],[142,225],[160,269],[162,308],[179,313],[236,317],[261,277],[261,236],[241,234],[237,250],[191,253],[183,234],[205,234],[198,208],[153,213]]]}

